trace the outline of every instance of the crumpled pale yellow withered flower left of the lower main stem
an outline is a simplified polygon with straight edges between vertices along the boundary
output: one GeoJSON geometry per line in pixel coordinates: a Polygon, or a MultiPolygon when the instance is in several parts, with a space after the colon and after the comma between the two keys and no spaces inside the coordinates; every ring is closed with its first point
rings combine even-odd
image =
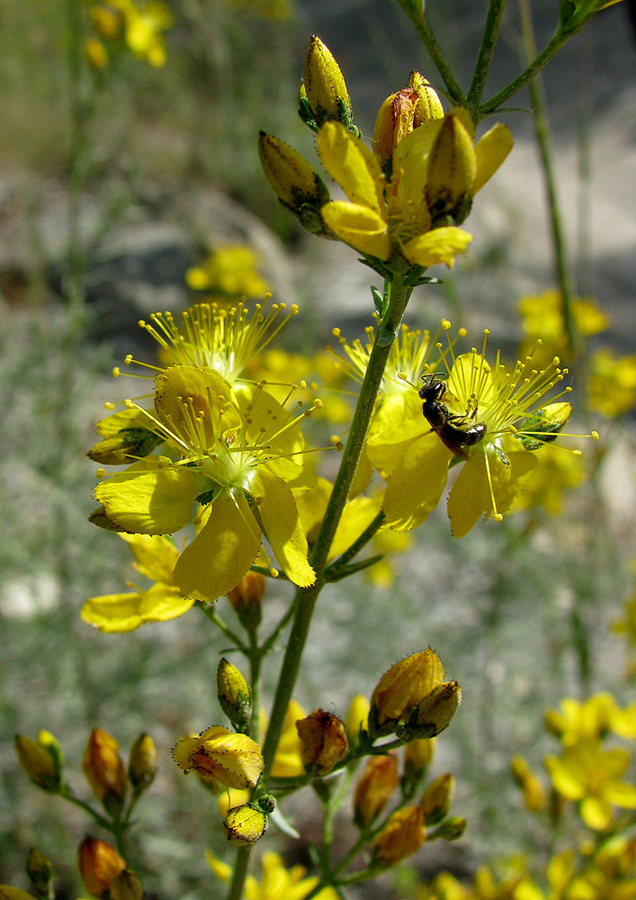
{"type": "Polygon", "coordinates": [[[254,788],[264,767],[261,748],[251,737],[221,725],[182,738],[173,755],[186,774],[194,770],[223,788],[254,788]]]}

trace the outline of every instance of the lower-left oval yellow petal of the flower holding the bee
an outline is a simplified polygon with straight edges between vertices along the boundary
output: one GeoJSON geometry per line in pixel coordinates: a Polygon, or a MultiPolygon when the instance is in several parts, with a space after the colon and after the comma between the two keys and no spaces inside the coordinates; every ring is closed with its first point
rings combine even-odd
{"type": "Polygon", "coordinates": [[[425,521],[440,501],[451,452],[434,434],[415,441],[399,459],[384,495],[385,525],[410,531],[425,521]]]}

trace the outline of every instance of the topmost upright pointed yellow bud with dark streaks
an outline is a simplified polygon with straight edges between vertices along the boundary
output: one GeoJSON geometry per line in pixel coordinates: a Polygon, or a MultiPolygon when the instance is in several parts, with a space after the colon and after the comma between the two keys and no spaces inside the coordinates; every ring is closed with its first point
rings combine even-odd
{"type": "Polygon", "coordinates": [[[309,39],[305,57],[304,85],[309,109],[318,128],[326,121],[340,121],[349,128],[354,113],[345,78],[331,51],[315,34],[309,39]]]}

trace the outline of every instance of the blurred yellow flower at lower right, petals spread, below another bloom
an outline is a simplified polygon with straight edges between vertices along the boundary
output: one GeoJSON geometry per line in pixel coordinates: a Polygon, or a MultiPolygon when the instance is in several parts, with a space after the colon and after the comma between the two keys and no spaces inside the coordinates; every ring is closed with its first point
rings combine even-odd
{"type": "Polygon", "coordinates": [[[552,786],[579,804],[588,828],[604,831],[612,822],[612,807],[636,809],[636,788],[621,781],[630,765],[622,747],[604,750],[598,741],[579,741],[560,757],[548,756],[545,766],[552,786]]]}

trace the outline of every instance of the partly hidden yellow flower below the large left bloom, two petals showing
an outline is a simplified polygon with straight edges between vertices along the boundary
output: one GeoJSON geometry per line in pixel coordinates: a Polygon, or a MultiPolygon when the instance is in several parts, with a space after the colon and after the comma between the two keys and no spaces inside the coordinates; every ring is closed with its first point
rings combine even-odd
{"type": "Polygon", "coordinates": [[[104,632],[134,631],[148,622],[167,622],[183,616],[193,605],[175,585],[179,551],[162,536],[120,535],[135,558],[132,568],[155,584],[148,590],[105,594],[86,600],[80,613],[89,625],[104,632]]]}

